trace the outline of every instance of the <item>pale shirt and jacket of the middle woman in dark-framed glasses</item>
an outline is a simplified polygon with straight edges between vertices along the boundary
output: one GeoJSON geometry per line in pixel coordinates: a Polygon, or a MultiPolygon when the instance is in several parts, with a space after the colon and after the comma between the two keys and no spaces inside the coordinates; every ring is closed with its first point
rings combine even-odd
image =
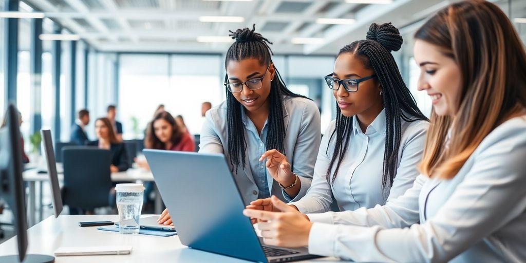
{"type": "MultiPolygon", "coordinates": [[[[384,191],[382,168],[386,142],[385,109],[367,127],[365,133],[361,130],[358,119],[353,118],[347,152],[336,180],[331,184],[326,179],[326,173],[336,145],[336,135],[329,141],[335,126],[336,121],[333,120],[323,135],[312,185],[307,195],[301,199],[295,198],[291,205],[295,205],[301,213],[323,213],[330,211],[332,194],[340,211],[371,208],[377,204],[383,205],[411,188],[419,175],[417,164],[422,157],[429,127],[426,120],[406,122],[401,119],[397,174],[392,187],[386,186],[384,191]]],[[[331,170],[332,176],[335,169],[336,162],[331,170]]],[[[332,177],[330,180],[332,181],[332,177]]]]}

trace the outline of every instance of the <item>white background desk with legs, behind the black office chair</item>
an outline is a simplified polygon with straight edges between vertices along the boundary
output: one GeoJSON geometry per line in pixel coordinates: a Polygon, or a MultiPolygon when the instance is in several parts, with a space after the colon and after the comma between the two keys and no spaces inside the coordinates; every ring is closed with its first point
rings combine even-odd
{"type": "MultiPolygon", "coordinates": [[[[62,164],[57,164],[61,166],[62,164]]],[[[118,173],[112,173],[112,181],[130,181],[143,183],[145,181],[154,181],[154,176],[151,174],[151,171],[147,171],[141,168],[130,168],[126,171],[119,171],[118,173]]],[[[59,181],[64,181],[64,174],[57,174],[59,181]]],[[[43,217],[43,202],[42,202],[42,182],[49,181],[49,176],[47,173],[39,174],[37,169],[25,170],[23,173],[24,181],[29,185],[29,196],[28,196],[28,211],[27,211],[27,220],[29,226],[33,226],[38,221],[42,221],[43,217]],[[38,219],[36,218],[36,184],[39,187],[39,198],[38,198],[38,219]]],[[[155,213],[161,213],[162,199],[160,198],[159,191],[157,187],[154,189],[156,191],[155,199],[155,213]]]]}

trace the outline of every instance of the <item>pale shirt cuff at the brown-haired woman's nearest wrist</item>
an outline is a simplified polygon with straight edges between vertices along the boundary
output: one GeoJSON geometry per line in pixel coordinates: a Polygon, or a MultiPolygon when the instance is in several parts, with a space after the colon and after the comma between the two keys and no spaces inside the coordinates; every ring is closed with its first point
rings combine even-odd
{"type": "Polygon", "coordinates": [[[335,257],[335,238],[338,228],[334,225],[314,223],[309,232],[309,254],[335,257]]]}

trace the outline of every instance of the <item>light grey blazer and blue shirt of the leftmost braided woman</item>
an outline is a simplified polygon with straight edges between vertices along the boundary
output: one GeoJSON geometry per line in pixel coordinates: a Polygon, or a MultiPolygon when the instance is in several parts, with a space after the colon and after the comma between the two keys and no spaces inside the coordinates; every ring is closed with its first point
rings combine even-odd
{"type": "MultiPolygon", "coordinates": [[[[298,196],[304,196],[312,181],[316,153],[321,140],[320,113],[312,100],[301,97],[284,96],[283,108],[285,154],[292,165],[292,171],[299,176],[301,182],[298,196]]],[[[243,169],[239,165],[237,170],[234,168],[233,172],[241,196],[246,205],[258,198],[266,198],[270,195],[276,195],[285,200],[281,187],[267,173],[266,160],[259,161],[261,155],[267,150],[265,147],[267,122],[261,130],[261,134],[258,134],[256,126],[245,115],[244,109],[242,112],[241,120],[245,126],[245,141],[247,143],[246,166],[243,169]]],[[[230,164],[227,154],[226,116],[226,102],[208,110],[201,130],[199,153],[225,154],[227,163],[230,164]]]]}

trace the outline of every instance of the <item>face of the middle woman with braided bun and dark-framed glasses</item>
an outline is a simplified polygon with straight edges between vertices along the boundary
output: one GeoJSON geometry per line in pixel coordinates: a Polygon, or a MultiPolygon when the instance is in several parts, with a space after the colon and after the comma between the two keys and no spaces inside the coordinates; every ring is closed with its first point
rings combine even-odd
{"type": "MultiPolygon", "coordinates": [[[[342,79],[358,79],[375,74],[371,68],[366,68],[361,59],[351,53],[342,53],[336,58],[332,77],[342,79]]],[[[340,85],[338,90],[332,90],[341,114],[346,117],[367,112],[382,103],[380,84],[376,78],[368,79],[358,84],[357,92],[348,92],[340,85]]]]}

